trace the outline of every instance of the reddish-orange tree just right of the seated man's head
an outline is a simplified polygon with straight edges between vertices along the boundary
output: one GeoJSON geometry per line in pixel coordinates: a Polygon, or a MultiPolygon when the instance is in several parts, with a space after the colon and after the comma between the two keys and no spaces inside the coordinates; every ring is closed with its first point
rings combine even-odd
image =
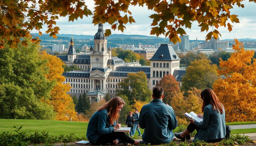
{"type": "Polygon", "coordinates": [[[176,92],[180,92],[179,82],[172,74],[164,75],[164,77],[156,83],[156,86],[162,87],[164,89],[164,99],[163,102],[171,104],[172,98],[176,92]]]}

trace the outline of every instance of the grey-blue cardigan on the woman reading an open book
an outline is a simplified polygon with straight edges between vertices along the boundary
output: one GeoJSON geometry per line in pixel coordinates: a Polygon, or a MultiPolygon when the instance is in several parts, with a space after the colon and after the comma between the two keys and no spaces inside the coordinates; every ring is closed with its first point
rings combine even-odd
{"type": "Polygon", "coordinates": [[[203,122],[194,122],[200,129],[197,131],[195,138],[198,140],[214,140],[224,138],[226,135],[225,110],[223,114],[213,109],[211,104],[205,106],[203,122]]]}

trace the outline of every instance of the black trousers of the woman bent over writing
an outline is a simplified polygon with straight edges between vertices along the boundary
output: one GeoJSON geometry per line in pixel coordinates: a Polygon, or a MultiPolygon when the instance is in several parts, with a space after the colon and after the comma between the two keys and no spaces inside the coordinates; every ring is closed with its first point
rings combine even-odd
{"type": "Polygon", "coordinates": [[[130,144],[133,144],[135,140],[130,138],[128,135],[126,135],[124,132],[112,132],[107,134],[102,134],[98,137],[97,141],[95,143],[91,142],[92,145],[104,145],[107,143],[113,143],[114,140],[119,139],[123,142],[127,142],[130,144]]]}

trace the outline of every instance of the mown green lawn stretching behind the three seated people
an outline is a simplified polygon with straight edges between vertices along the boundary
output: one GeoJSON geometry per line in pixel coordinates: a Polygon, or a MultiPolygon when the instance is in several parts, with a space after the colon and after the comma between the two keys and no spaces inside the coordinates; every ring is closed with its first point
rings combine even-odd
{"type": "MultiPolygon", "coordinates": [[[[20,119],[0,119],[0,132],[9,131],[15,132],[13,126],[19,127],[22,126],[21,131],[24,132],[34,132],[34,131],[45,131],[51,135],[59,134],[69,134],[76,133],[76,135],[86,134],[88,122],[71,122],[71,121],[51,121],[51,120],[20,120],[20,119]]],[[[227,123],[227,125],[244,125],[254,124],[253,122],[233,122],[227,123]],[[240,123],[240,124],[237,124],[240,123]]],[[[141,133],[144,132],[144,129],[141,129],[141,133]]],[[[256,128],[253,129],[231,129],[231,134],[240,134],[240,133],[254,133],[256,128]]],[[[135,136],[138,135],[136,130],[135,136]]]]}

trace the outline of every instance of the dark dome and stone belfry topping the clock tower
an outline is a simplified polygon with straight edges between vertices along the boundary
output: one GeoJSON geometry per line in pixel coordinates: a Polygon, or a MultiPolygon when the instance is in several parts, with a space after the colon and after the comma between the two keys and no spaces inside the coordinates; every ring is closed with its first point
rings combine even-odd
{"type": "Polygon", "coordinates": [[[105,37],[103,24],[99,24],[98,32],[94,35],[94,51],[100,52],[102,48],[103,51],[107,51],[107,38],[105,37]]]}

